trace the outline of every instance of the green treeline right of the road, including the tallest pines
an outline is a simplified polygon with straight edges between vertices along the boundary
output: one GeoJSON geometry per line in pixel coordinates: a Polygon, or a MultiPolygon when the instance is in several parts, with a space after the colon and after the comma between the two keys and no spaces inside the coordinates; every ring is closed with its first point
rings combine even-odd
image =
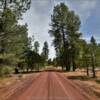
{"type": "Polygon", "coordinates": [[[76,68],[89,69],[95,77],[95,67],[100,65],[100,44],[92,36],[90,42],[82,39],[79,32],[80,18],[64,3],[56,5],[51,15],[51,30],[53,45],[56,50],[55,64],[63,70],[75,71],[76,68]]]}

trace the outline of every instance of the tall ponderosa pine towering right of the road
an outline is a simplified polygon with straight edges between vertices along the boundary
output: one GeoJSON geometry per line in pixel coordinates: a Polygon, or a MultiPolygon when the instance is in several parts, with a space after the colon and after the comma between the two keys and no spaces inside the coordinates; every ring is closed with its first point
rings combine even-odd
{"type": "Polygon", "coordinates": [[[79,27],[80,19],[74,11],[70,11],[64,3],[54,7],[49,33],[54,37],[53,44],[61,65],[67,71],[71,66],[73,70],[76,68],[76,45],[81,35],[78,32],[79,27]]]}

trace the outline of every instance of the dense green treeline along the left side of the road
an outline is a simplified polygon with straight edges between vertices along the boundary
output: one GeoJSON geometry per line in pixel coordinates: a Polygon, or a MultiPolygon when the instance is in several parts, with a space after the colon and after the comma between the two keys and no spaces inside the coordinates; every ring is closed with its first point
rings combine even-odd
{"type": "Polygon", "coordinates": [[[48,43],[39,54],[39,43],[28,37],[27,24],[18,23],[30,6],[31,0],[0,1],[0,75],[39,70],[48,58],[48,43]]]}

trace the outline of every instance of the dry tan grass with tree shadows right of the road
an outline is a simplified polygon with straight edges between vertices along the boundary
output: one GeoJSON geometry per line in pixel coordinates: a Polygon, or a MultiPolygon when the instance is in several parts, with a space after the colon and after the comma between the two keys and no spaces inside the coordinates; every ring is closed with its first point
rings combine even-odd
{"type": "Polygon", "coordinates": [[[100,70],[96,71],[96,78],[91,78],[86,75],[85,71],[64,72],[64,75],[72,80],[80,81],[93,88],[94,92],[100,96],[100,70]]]}

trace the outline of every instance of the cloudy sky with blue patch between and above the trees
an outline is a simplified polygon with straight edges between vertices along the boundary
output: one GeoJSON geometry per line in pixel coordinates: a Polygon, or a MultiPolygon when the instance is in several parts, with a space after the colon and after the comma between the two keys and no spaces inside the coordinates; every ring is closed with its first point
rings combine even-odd
{"type": "Polygon", "coordinates": [[[94,36],[100,42],[100,0],[31,0],[31,8],[23,14],[20,24],[28,24],[28,35],[34,35],[40,43],[42,51],[44,41],[49,44],[49,58],[55,57],[55,50],[52,45],[52,37],[48,34],[51,23],[53,7],[64,2],[70,10],[74,10],[81,20],[80,32],[82,38],[89,42],[94,36]]]}

